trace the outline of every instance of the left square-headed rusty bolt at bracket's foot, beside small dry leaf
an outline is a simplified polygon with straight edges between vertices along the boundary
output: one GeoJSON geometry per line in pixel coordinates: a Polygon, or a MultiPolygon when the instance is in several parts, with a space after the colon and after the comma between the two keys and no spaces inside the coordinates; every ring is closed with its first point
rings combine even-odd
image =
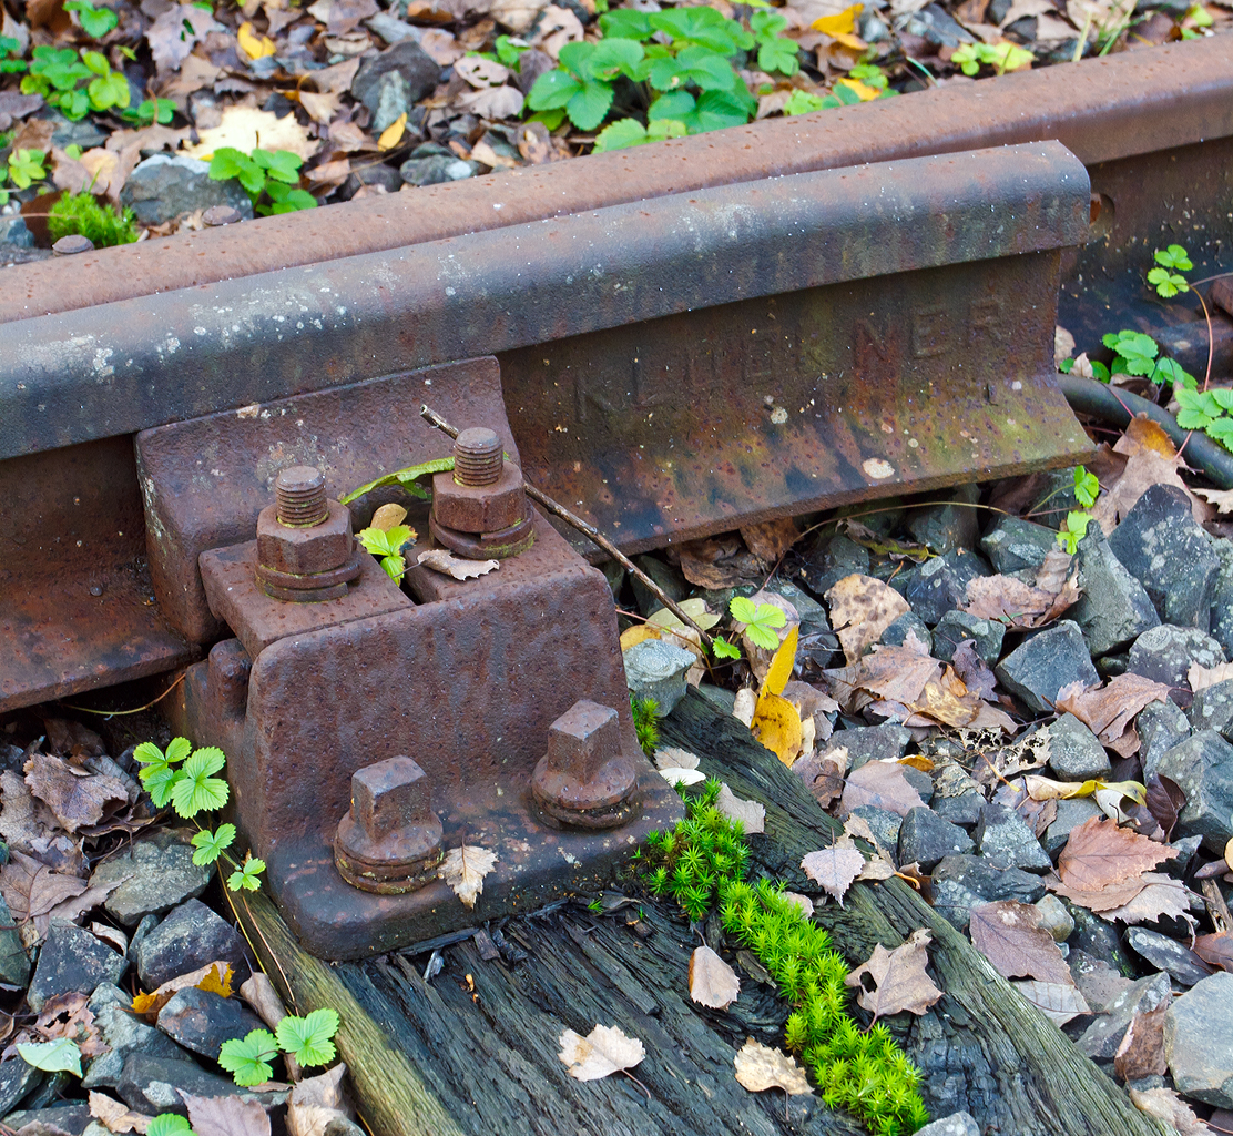
{"type": "Polygon", "coordinates": [[[390,757],[351,776],[351,810],[334,835],[339,875],[364,892],[422,888],[441,858],[441,821],[428,775],[411,757],[390,757]]]}

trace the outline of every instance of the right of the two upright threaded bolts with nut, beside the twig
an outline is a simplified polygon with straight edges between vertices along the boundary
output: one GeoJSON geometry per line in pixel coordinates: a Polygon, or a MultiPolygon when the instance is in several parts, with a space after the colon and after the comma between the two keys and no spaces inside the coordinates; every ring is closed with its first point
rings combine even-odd
{"type": "Polygon", "coordinates": [[[460,556],[514,556],[535,540],[523,474],[506,461],[496,430],[472,427],[454,444],[454,472],[433,477],[433,535],[460,556]]]}

